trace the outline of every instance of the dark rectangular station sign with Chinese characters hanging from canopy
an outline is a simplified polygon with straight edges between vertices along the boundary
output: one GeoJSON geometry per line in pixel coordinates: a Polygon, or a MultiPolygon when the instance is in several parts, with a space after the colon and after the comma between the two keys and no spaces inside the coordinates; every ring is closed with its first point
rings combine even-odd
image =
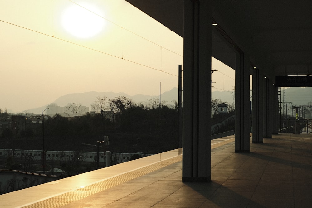
{"type": "Polygon", "coordinates": [[[276,76],[277,87],[312,87],[312,76],[276,76]]]}

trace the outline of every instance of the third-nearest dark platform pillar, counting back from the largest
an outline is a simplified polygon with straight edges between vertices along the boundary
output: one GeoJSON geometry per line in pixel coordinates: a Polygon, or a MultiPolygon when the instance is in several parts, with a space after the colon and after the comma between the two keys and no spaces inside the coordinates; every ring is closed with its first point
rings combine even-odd
{"type": "Polygon", "coordinates": [[[252,143],[263,143],[263,74],[252,70],[252,143]]]}

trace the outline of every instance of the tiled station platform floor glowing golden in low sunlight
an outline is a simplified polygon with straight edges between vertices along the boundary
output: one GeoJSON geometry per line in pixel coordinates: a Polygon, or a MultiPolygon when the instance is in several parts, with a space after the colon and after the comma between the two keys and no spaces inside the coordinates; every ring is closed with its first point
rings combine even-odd
{"type": "Polygon", "coordinates": [[[181,149],[0,195],[0,207],[311,207],[312,135],[278,134],[249,153],[212,140],[211,182],[182,182],[181,149]]]}

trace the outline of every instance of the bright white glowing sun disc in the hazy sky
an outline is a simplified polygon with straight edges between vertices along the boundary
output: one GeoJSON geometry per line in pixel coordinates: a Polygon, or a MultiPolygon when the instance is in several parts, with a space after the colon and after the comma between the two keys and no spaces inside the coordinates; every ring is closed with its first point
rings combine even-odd
{"type": "Polygon", "coordinates": [[[90,38],[103,30],[104,19],[99,15],[96,8],[72,5],[62,15],[62,26],[73,36],[90,38]]]}

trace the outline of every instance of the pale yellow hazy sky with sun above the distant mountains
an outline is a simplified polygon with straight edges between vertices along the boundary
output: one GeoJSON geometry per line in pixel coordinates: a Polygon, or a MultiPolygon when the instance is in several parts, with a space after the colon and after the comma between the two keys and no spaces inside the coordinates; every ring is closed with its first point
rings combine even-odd
{"type": "MultiPolygon", "coordinates": [[[[80,92],[178,87],[183,38],[124,0],[0,0],[0,107],[22,112],[80,92]]],[[[213,59],[212,90],[235,71],[213,59]]]]}

